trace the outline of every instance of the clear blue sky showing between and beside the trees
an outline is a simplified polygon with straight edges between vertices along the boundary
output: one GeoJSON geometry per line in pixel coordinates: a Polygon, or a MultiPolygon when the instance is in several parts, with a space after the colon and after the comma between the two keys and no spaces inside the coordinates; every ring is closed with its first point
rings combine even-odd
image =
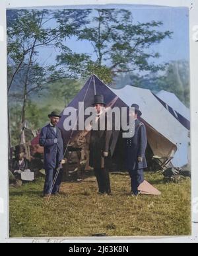
{"type": "MultiPolygon", "coordinates": [[[[170,30],[174,32],[172,39],[166,38],[160,44],[154,44],[150,50],[160,53],[160,58],[155,60],[156,64],[176,61],[189,60],[189,10],[184,7],[131,7],[134,22],[162,21],[163,25],[158,28],[160,31],[170,30]]],[[[53,21],[51,21],[53,22],[53,21]]],[[[88,41],[77,41],[76,38],[67,40],[67,46],[77,53],[87,53],[95,56],[93,48],[88,41]]],[[[51,51],[51,48],[40,49],[40,62],[54,62],[59,54],[51,51]]]]}

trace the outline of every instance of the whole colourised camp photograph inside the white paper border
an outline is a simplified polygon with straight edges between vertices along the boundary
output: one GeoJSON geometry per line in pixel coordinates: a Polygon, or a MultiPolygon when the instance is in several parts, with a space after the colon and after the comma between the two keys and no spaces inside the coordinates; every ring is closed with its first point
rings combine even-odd
{"type": "Polygon", "coordinates": [[[9,8],[7,49],[10,237],[191,235],[189,9],[9,8]]]}

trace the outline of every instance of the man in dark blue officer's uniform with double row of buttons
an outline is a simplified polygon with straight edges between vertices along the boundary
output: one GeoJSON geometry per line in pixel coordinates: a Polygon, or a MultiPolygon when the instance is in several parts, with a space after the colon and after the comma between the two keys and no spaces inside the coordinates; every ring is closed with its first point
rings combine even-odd
{"type": "Polygon", "coordinates": [[[144,181],[143,169],[147,168],[145,151],[147,148],[147,131],[145,124],[138,117],[142,115],[137,104],[131,107],[135,108],[135,134],[133,138],[125,139],[125,161],[126,168],[131,177],[131,191],[137,196],[139,194],[138,187],[144,181]]]}

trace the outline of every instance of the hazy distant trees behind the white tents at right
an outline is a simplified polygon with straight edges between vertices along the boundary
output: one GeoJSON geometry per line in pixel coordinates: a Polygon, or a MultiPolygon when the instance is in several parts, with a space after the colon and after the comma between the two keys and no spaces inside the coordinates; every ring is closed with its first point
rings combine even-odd
{"type": "Polygon", "coordinates": [[[160,73],[149,73],[144,76],[138,73],[121,74],[114,82],[114,87],[123,87],[127,84],[149,89],[153,93],[169,91],[189,107],[189,62],[185,60],[170,62],[160,73]]]}

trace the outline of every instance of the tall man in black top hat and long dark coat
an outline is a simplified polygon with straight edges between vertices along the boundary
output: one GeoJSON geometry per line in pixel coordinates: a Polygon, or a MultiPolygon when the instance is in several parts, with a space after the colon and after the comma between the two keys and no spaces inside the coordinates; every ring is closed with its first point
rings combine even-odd
{"type": "Polygon", "coordinates": [[[111,158],[110,142],[112,138],[112,131],[108,131],[106,128],[105,130],[100,131],[100,117],[104,114],[104,112],[102,113],[102,108],[106,105],[104,103],[104,96],[96,95],[94,97],[93,105],[98,113],[96,118],[98,130],[91,130],[90,134],[90,167],[94,168],[99,189],[98,193],[111,194],[110,175],[108,169],[111,158]]]}

